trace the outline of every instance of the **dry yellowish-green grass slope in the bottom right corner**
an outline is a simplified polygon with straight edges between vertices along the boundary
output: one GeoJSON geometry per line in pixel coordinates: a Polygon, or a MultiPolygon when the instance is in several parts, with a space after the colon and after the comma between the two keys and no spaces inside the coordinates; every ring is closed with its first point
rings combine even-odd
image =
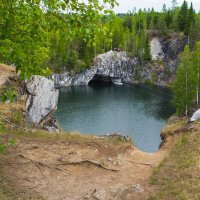
{"type": "Polygon", "coordinates": [[[200,199],[200,135],[184,133],[170,155],[156,168],[150,183],[158,190],[154,200],[200,199]]]}

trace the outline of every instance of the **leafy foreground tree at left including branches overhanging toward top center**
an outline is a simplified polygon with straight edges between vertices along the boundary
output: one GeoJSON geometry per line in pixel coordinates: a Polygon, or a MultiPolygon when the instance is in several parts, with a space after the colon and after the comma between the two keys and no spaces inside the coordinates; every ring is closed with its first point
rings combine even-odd
{"type": "MultiPolygon", "coordinates": [[[[116,4],[115,0],[103,2],[110,7],[116,4]]],[[[90,0],[87,4],[78,0],[1,0],[0,61],[16,65],[22,79],[32,74],[49,74],[47,63],[52,47],[49,33],[53,31],[51,37],[59,38],[57,41],[50,39],[56,41],[61,52],[77,34],[82,34],[88,45],[95,45],[96,35],[103,30],[95,23],[96,17],[103,11],[108,13],[110,10],[104,10],[98,0],[90,0]],[[70,24],[70,27],[62,32],[57,27],[59,23],[70,24]]],[[[61,62],[63,59],[60,56],[61,62]]]]}

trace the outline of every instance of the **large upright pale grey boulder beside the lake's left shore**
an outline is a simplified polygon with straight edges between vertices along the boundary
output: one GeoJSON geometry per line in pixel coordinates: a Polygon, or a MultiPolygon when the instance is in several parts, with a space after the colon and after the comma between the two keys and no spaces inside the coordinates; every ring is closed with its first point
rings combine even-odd
{"type": "Polygon", "coordinates": [[[32,76],[26,88],[26,118],[30,123],[41,124],[56,110],[59,91],[52,80],[42,76],[32,76]]]}

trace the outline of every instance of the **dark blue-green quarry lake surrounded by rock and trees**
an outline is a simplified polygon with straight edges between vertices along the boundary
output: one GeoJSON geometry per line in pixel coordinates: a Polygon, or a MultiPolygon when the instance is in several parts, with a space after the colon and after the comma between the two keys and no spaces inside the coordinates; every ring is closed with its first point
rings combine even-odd
{"type": "Polygon", "coordinates": [[[56,119],[66,131],[127,134],[139,149],[155,152],[174,113],[171,98],[169,90],[149,85],[61,88],[56,119]]]}

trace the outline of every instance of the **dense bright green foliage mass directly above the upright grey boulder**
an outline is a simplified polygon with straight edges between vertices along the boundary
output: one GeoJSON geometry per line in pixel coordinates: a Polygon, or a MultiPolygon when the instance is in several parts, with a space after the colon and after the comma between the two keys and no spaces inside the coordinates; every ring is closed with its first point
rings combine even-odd
{"type": "Polygon", "coordinates": [[[0,59],[16,65],[21,78],[46,74],[49,58],[45,17],[39,3],[2,1],[0,3],[0,59]]]}

